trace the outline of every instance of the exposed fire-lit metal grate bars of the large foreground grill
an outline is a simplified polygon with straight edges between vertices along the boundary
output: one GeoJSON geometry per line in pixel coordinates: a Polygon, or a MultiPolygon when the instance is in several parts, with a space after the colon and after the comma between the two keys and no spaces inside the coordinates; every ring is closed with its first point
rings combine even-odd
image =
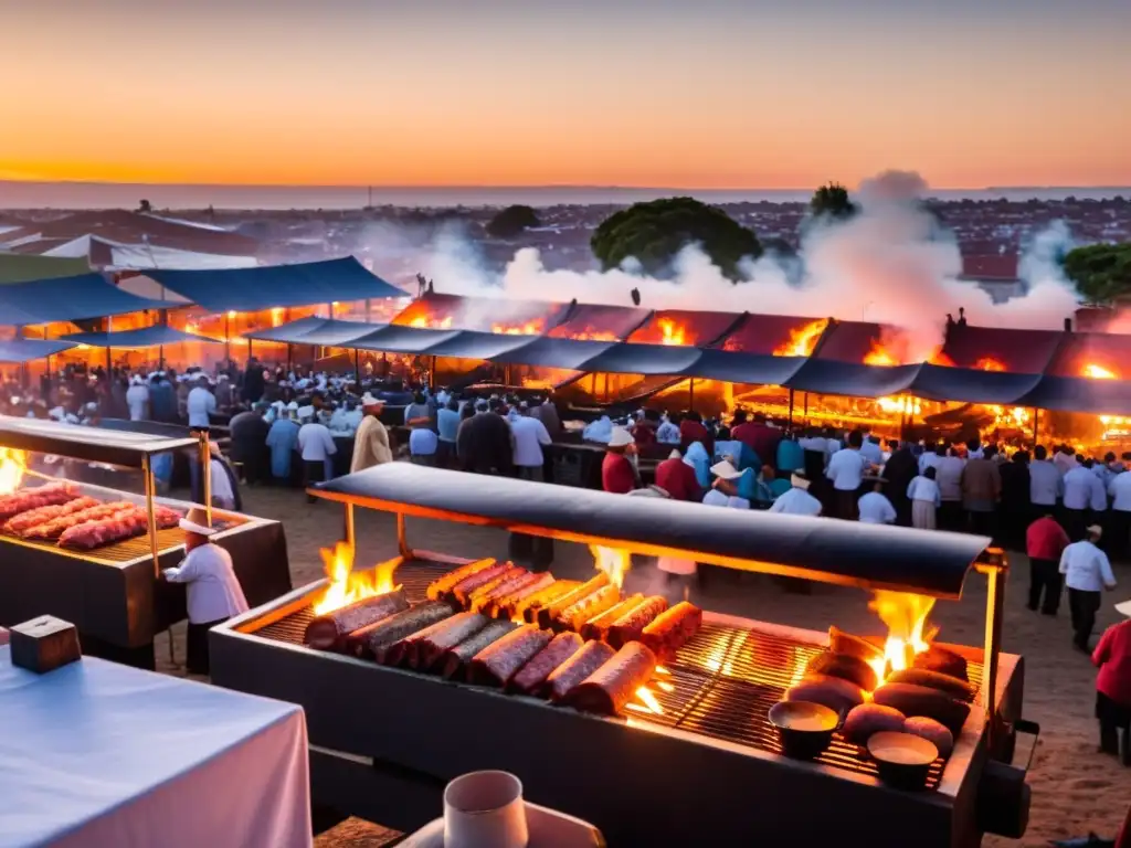
{"type": "MultiPolygon", "coordinates": [[[[424,599],[432,580],[450,570],[448,563],[409,560],[397,569],[395,580],[415,603],[424,599]]],[[[260,628],[256,634],[301,643],[312,617],[311,608],[304,607],[260,628]]],[[[820,651],[819,646],[758,629],[705,624],[649,684],[664,712],[656,715],[630,704],[629,715],[633,720],[780,754],[769,709],[802,678],[805,664],[820,651]]],[[[975,687],[981,685],[981,664],[970,663],[968,673],[970,683],[975,687]]],[[[860,775],[877,773],[874,763],[839,735],[817,762],[860,775]]],[[[938,788],[944,765],[946,761],[940,759],[931,767],[929,789],[938,788]]]]}

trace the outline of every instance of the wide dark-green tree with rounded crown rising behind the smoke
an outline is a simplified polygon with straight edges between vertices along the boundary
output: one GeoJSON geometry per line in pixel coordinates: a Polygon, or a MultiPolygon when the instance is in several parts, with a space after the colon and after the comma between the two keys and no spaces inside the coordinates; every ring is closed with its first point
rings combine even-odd
{"type": "Polygon", "coordinates": [[[740,278],[743,258],[762,253],[752,231],[718,207],[689,197],[633,204],[613,213],[589,243],[606,270],[631,257],[649,274],[664,272],[684,246],[698,244],[731,279],[740,278]]]}

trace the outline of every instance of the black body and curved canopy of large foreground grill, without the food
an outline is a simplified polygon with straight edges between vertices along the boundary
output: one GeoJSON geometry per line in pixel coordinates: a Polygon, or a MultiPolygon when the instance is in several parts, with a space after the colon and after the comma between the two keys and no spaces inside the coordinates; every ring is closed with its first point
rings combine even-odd
{"type": "MultiPolygon", "coordinates": [[[[455,563],[413,552],[406,514],[940,597],[955,597],[975,562],[992,583],[1005,565],[984,551],[986,539],[935,539],[828,519],[775,517],[770,525],[758,513],[520,481],[492,479],[484,491],[481,477],[420,467],[385,466],[312,491],[347,504],[349,537],[355,504],[397,512],[395,580],[414,598],[455,563]],[[735,529],[728,518],[717,525],[703,513],[753,520],[735,529]],[[763,559],[740,559],[742,548],[763,559]],[[860,556],[865,550],[873,555],[860,556]],[[837,551],[847,560],[834,561],[837,551]],[[914,568],[900,570],[895,556],[914,568]]],[[[305,648],[302,633],[323,587],[305,587],[214,630],[213,681],[305,708],[313,797],[344,813],[414,829],[435,816],[444,781],[501,768],[519,775],[532,801],[593,821],[611,845],[851,840],[953,848],[977,845],[986,830],[1025,829],[1025,770],[993,759],[1011,755],[1024,660],[1000,652],[994,621],[988,654],[948,646],[967,658],[981,702],[951,756],[932,767],[926,790],[905,793],[881,784],[874,765],[839,738],[815,762],[782,755],[766,713],[800,680],[824,633],[708,612],[700,633],[665,665],[668,674],[653,682],[663,713],[606,719],[305,648]]],[[[996,588],[991,620],[1001,602],[996,588]]]]}

